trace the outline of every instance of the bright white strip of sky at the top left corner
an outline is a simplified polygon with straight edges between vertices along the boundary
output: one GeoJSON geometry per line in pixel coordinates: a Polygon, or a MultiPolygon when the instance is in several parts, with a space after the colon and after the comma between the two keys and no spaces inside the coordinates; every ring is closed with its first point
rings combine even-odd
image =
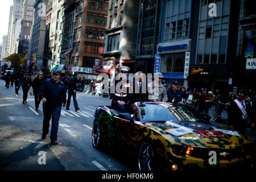
{"type": "Polygon", "coordinates": [[[13,0],[0,1],[0,43],[2,43],[3,35],[8,34],[8,23],[11,5],[13,5],[13,0]]]}

